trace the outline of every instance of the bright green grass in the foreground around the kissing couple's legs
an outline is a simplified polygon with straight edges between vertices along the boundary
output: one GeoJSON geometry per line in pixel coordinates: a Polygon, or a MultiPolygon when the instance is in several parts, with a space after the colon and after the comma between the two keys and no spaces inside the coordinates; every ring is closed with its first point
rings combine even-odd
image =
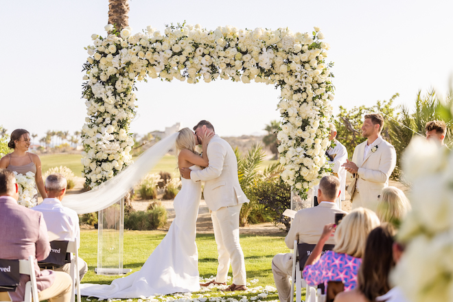
{"type": "MultiPolygon", "coordinates": [[[[165,231],[124,231],[124,268],[132,268],[132,272],[140,270],[143,263],[161,242],[165,234],[165,231]]],[[[258,279],[257,283],[251,283],[250,287],[275,287],[270,268],[272,257],[277,253],[289,253],[288,247],[284,243],[283,235],[241,235],[240,240],[242,250],[244,251],[247,281],[250,282],[253,279],[258,279]]],[[[94,268],[97,266],[97,231],[82,230],[81,242],[79,255],[89,266],[89,271],[86,273],[82,283],[110,284],[117,276],[95,275],[94,272],[94,268]]],[[[198,270],[200,271],[200,277],[209,278],[215,276],[218,262],[214,235],[198,234],[196,244],[198,246],[198,270]]],[[[231,269],[229,276],[231,276],[231,269]]],[[[194,293],[194,298],[198,298],[198,294],[205,294],[205,297],[222,297],[224,295],[224,293],[216,289],[207,293],[194,293]]],[[[257,293],[241,294],[241,292],[237,292],[237,294],[233,294],[232,296],[229,294],[226,294],[226,296],[237,300],[242,299],[243,296],[251,299],[251,297],[256,297],[257,293]]],[[[268,294],[266,298],[259,297],[258,299],[262,301],[276,300],[278,299],[277,292],[268,294]]],[[[82,297],[82,300],[86,301],[86,297],[82,297]]]]}

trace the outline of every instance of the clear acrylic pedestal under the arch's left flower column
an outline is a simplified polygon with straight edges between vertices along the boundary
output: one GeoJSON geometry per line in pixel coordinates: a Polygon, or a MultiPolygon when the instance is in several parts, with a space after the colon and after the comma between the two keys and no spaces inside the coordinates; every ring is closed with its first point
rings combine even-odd
{"type": "Polygon", "coordinates": [[[97,275],[124,275],[123,268],[124,198],[99,211],[97,222],[97,275]]]}

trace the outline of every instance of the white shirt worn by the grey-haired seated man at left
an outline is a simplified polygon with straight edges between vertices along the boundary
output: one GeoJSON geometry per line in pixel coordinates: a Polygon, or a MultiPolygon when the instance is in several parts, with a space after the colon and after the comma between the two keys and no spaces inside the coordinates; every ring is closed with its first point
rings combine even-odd
{"type": "Polygon", "coordinates": [[[72,241],[77,238],[80,248],[79,216],[73,209],[63,207],[57,198],[45,198],[32,209],[43,213],[47,231],[58,235],[58,240],[72,241]]]}

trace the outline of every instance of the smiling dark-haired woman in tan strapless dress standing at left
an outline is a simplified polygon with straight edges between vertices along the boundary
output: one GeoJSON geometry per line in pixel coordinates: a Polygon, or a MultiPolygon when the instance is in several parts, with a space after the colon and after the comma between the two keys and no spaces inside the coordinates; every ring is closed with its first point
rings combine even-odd
{"type": "Polygon", "coordinates": [[[36,187],[43,198],[47,198],[41,172],[41,161],[39,156],[28,151],[30,147],[30,132],[25,129],[16,129],[11,133],[11,140],[8,147],[14,149],[0,159],[0,168],[16,171],[20,174],[33,172],[36,187]]]}

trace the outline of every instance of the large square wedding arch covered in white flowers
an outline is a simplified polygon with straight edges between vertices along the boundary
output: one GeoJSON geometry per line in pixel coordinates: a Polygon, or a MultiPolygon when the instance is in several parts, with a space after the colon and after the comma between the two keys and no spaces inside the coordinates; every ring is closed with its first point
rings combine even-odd
{"type": "Polygon", "coordinates": [[[281,89],[278,133],[281,177],[301,196],[329,170],[325,150],[332,116],[334,86],[326,64],[329,45],[314,27],[312,34],[288,29],[237,30],[200,25],[168,26],[165,34],[152,27],[131,35],[105,27],[105,38],[94,34],[86,47],[83,97],[86,124],[82,163],[86,185],[95,187],[130,163],[134,141],[128,128],[135,116],[136,80],[146,77],[196,83],[218,78],[262,82],[281,89]]]}

